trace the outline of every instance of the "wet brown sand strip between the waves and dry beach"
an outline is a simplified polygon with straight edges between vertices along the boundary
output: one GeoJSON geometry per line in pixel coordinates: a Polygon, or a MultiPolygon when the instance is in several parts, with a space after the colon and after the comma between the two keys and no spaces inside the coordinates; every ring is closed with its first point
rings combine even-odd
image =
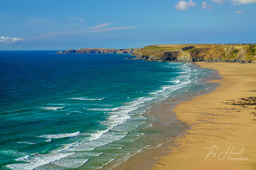
{"type": "MultiPolygon", "coordinates": [[[[195,64],[196,67],[199,68],[198,65],[195,64]]],[[[202,84],[208,84],[207,89],[201,89],[201,90],[193,90],[191,93],[181,93],[175,97],[170,96],[165,100],[162,100],[160,103],[152,106],[147,110],[145,113],[142,114],[144,117],[148,117],[148,115],[152,115],[155,117],[155,121],[152,123],[154,131],[158,131],[161,133],[161,131],[166,131],[166,129],[169,129],[170,127],[182,127],[182,130],[179,131],[178,134],[174,136],[169,135],[168,141],[163,141],[161,146],[157,148],[150,148],[148,150],[141,151],[137,153],[136,155],[133,155],[125,162],[121,163],[117,167],[113,168],[112,170],[137,170],[138,168],[142,170],[150,169],[153,165],[159,164],[159,158],[162,156],[167,155],[168,153],[172,152],[173,148],[178,147],[179,143],[174,141],[176,138],[183,137],[183,135],[186,133],[186,131],[190,128],[184,121],[180,121],[176,117],[176,113],[173,111],[174,107],[179,105],[180,103],[184,101],[189,101],[193,99],[194,97],[201,96],[204,94],[211,93],[213,90],[215,90],[217,87],[219,87],[218,83],[208,83],[210,80],[218,80],[220,79],[219,73],[216,70],[212,70],[213,73],[212,77],[209,78],[203,78],[199,80],[198,82],[202,84]],[[165,130],[163,130],[165,129],[165,130]],[[172,146],[173,148],[170,150],[168,147],[172,146]],[[160,152],[159,152],[160,151],[160,152]]],[[[170,133],[172,133],[170,131],[170,133]]],[[[148,138],[151,138],[151,134],[145,134],[148,136],[148,138]]],[[[161,138],[156,137],[156,134],[153,136],[155,138],[161,138]]]]}

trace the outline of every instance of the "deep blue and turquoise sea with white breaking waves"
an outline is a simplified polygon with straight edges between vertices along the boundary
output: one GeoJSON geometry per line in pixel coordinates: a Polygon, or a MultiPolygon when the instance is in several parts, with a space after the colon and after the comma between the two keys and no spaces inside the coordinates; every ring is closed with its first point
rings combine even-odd
{"type": "MultiPolygon", "coordinates": [[[[0,169],[112,169],[150,140],[150,107],[208,89],[194,63],[126,60],[128,54],[0,51],[0,169]]],[[[173,138],[183,127],[172,127],[173,138]]]]}

